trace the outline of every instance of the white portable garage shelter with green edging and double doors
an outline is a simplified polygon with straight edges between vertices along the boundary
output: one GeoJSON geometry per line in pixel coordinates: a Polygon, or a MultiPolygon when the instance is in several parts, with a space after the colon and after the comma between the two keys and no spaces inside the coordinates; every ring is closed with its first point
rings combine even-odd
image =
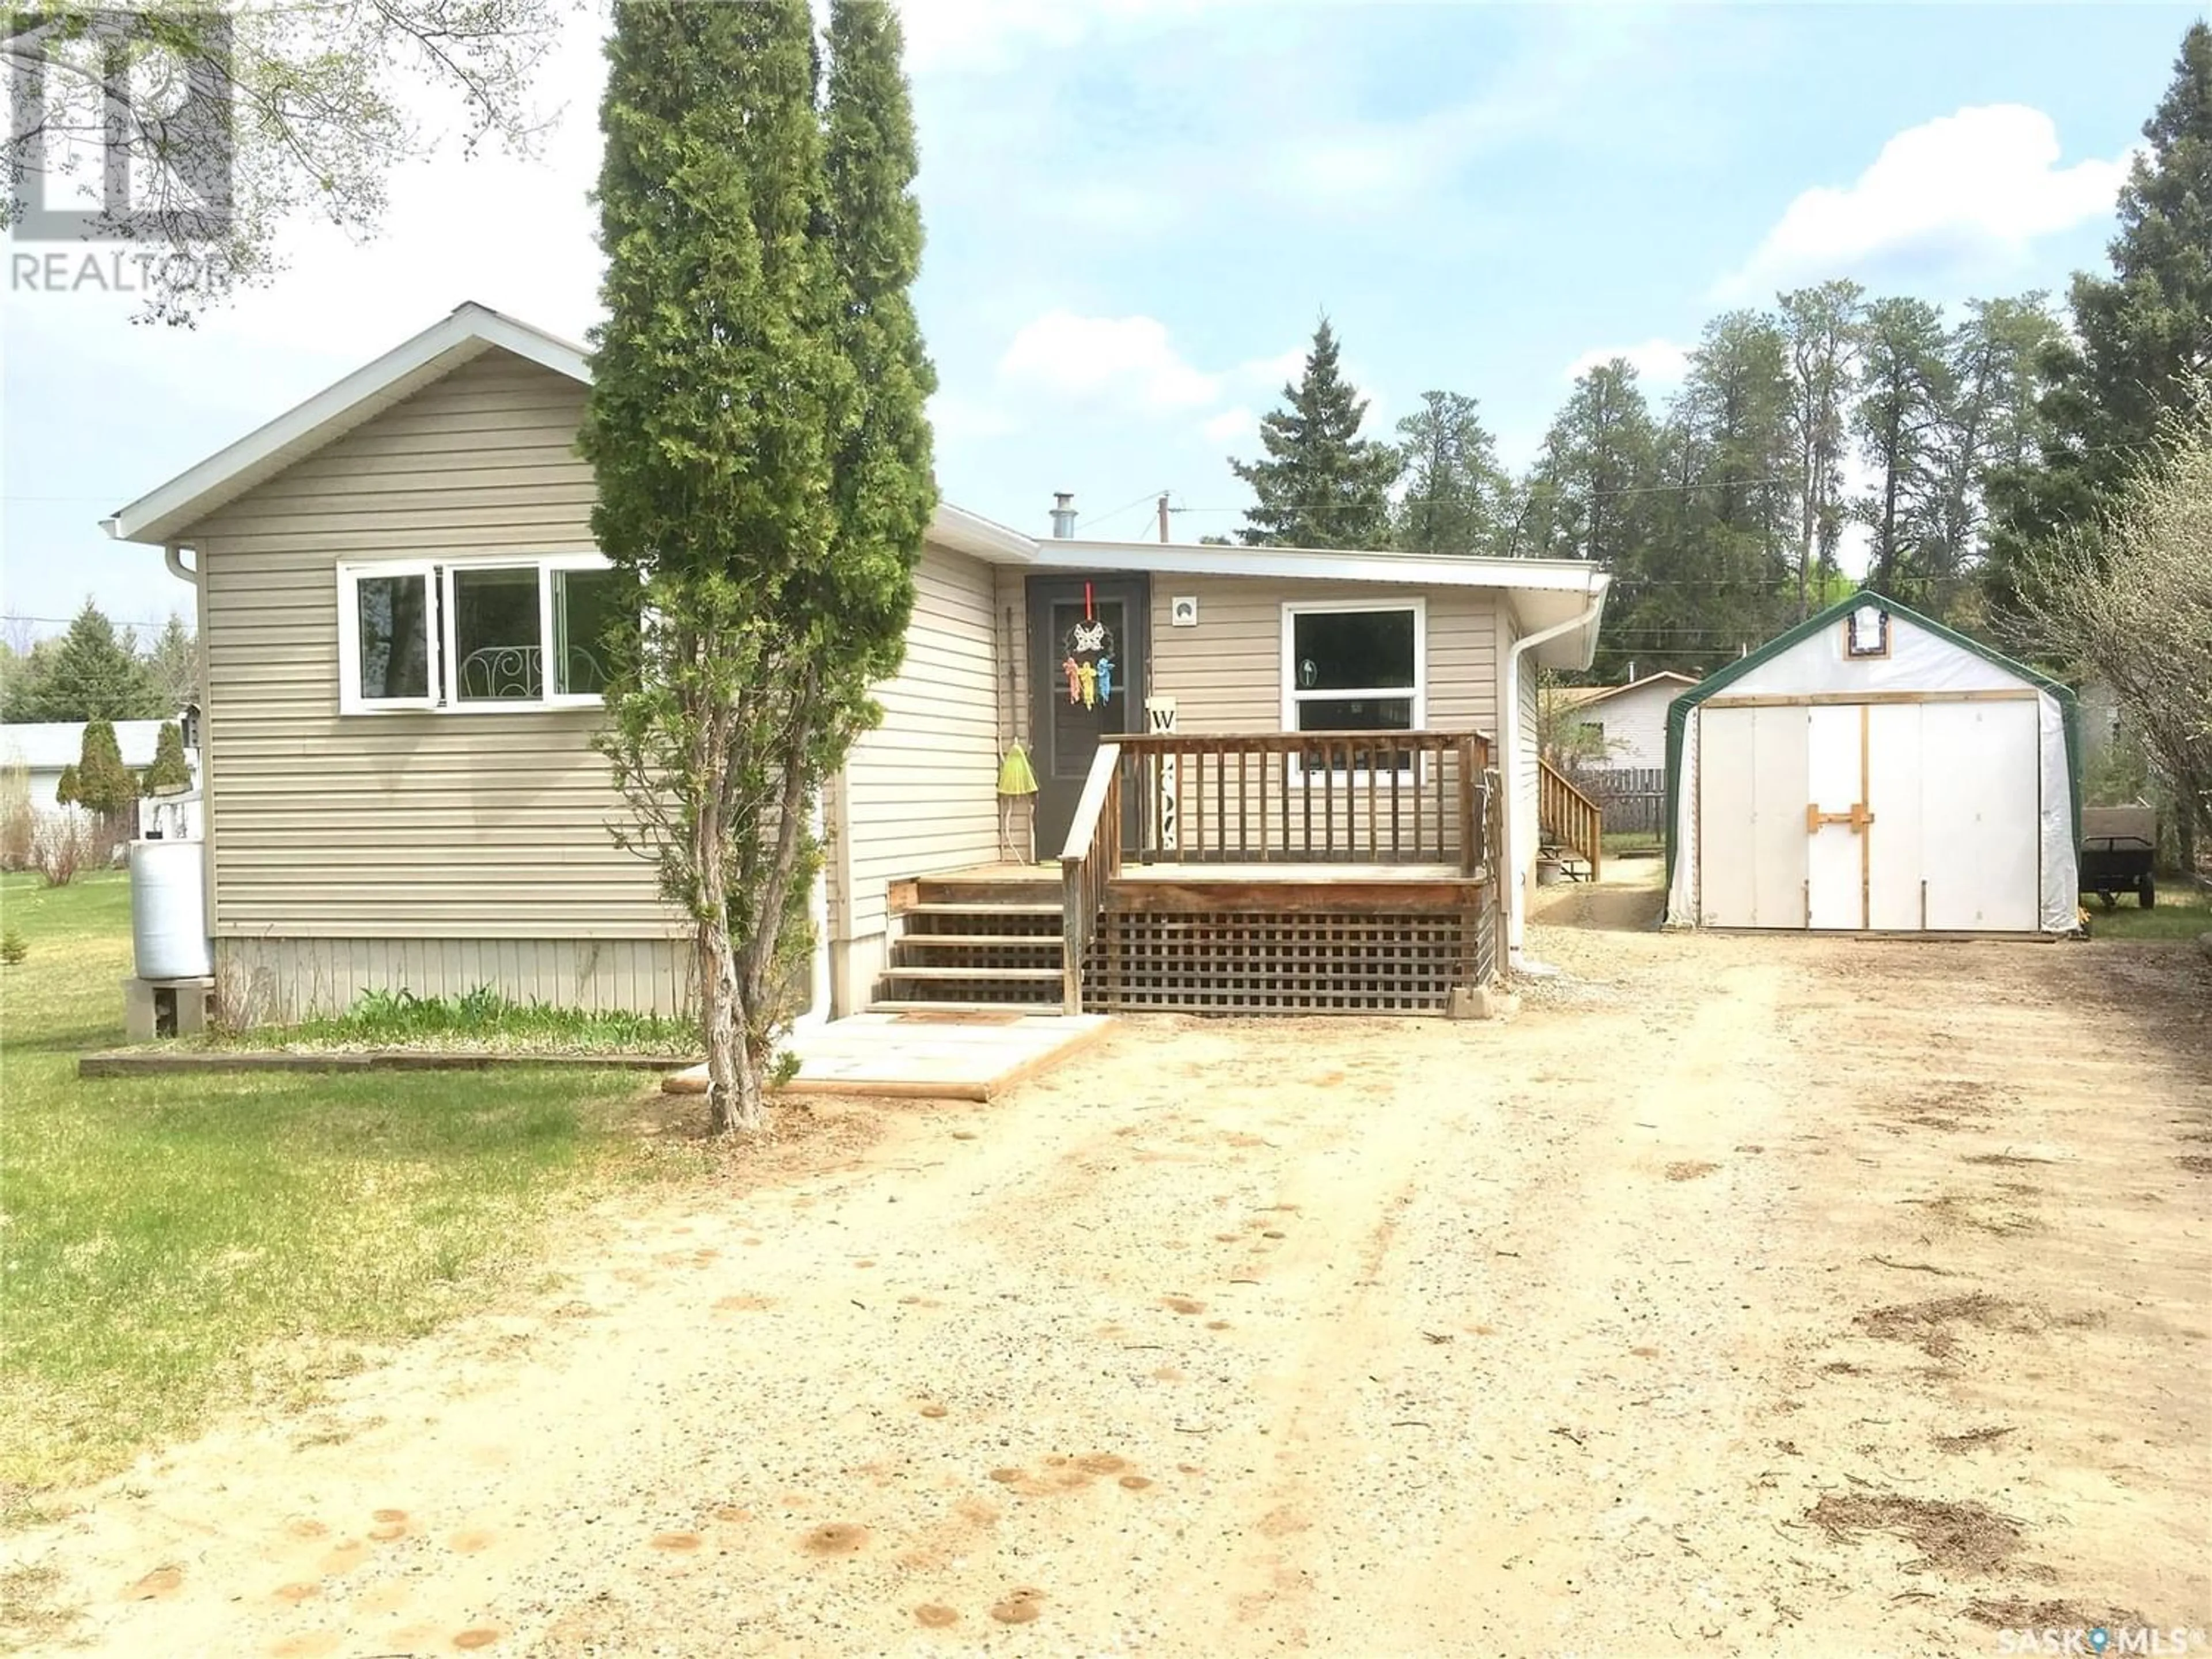
{"type": "Polygon", "coordinates": [[[1856,593],[1668,710],[1668,922],[2068,933],[2075,699],[1856,593]]]}

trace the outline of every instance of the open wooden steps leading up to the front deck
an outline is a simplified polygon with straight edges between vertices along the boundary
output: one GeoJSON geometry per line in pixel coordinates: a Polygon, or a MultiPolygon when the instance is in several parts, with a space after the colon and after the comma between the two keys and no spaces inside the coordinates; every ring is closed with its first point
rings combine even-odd
{"type": "Polygon", "coordinates": [[[894,894],[905,922],[876,1013],[1060,1013],[1060,883],[931,878],[894,894]],[[898,902],[905,900],[905,902],[898,902]]]}

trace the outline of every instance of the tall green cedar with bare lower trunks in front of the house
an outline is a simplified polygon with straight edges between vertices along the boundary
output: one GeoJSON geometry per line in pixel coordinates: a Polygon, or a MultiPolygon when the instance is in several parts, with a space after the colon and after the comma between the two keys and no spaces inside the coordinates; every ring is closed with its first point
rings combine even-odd
{"type": "Polygon", "coordinates": [[[898,27],[836,0],[622,0],[602,104],[593,533],[639,580],[602,748],[692,918],[708,1113],[765,1121],[823,783],[898,666],[931,507],[898,27]],[[856,108],[854,100],[867,100],[856,108]],[[827,126],[827,137],[825,137],[827,126]],[[836,184],[832,186],[832,179],[836,184]]]}

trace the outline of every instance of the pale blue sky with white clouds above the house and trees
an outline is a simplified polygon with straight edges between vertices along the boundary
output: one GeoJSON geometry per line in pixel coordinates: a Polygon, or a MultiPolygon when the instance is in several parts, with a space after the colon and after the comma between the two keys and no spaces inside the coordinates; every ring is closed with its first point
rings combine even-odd
{"type": "MultiPolygon", "coordinates": [[[[1655,403],[1732,305],[1851,276],[1955,305],[2104,268],[2112,199],[2205,9],[909,0],[929,234],[918,307],[947,500],[1046,533],[1230,533],[1327,314],[1391,436],[1473,394],[1524,467],[1613,354],[1655,403]]],[[[0,290],[0,613],[190,617],[97,520],[480,301],[582,338],[604,9],[571,13],[533,157],[447,144],[380,234],[195,330],[0,290]]],[[[436,115],[431,113],[431,119],[436,115]]]]}

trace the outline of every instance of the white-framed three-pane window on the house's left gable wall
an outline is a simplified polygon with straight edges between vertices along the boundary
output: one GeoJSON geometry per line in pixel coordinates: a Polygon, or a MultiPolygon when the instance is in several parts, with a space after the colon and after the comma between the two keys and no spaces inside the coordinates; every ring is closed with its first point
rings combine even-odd
{"type": "Polygon", "coordinates": [[[593,708],[635,604],[597,553],[338,566],[338,712],[593,708]]]}

